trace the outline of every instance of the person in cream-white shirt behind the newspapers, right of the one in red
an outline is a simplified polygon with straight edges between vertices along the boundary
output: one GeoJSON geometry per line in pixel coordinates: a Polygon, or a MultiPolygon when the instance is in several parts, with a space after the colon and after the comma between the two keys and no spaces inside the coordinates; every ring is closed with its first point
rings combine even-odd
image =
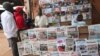
{"type": "Polygon", "coordinates": [[[35,17],[35,26],[36,27],[47,27],[48,26],[48,19],[44,14],[42,14],[41,8],[39,8],[38,16],[35,17]]]}

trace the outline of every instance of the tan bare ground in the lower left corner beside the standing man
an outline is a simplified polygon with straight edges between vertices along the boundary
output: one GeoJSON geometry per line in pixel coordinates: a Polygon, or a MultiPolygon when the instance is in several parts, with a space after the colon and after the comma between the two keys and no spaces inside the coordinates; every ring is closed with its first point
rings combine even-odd
{"type": "Polygon", "coordinates": [[[8,41],[0,30],[0,56],[12,56],[11,48],[9,48],[8,41]]]}

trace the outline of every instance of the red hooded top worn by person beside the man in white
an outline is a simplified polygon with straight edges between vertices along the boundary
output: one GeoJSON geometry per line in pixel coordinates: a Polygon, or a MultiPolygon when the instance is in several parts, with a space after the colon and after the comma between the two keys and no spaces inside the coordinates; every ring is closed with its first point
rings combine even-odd
{"type": "Polygon", "coordinates": [[[17,8],[15,9],[14,16],[15,16],[17,28],[18,28],[19,30],[25,29],[26,26],[25,26],[25,20],[24,20],[24,17],[23,17],[22,8],[17,7],[17,8]]]}

